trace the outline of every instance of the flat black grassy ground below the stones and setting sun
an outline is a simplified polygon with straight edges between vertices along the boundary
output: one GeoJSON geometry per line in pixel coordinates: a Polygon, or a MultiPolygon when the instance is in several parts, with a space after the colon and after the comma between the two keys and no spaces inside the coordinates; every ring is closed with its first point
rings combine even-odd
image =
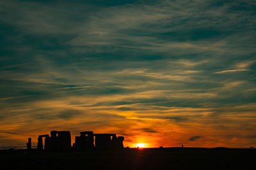
{"type": "Polygon", "coordinates": [[[227,148],[0,151],[0,169],[256,169],[255,160],[255,149],[227,148]]]}

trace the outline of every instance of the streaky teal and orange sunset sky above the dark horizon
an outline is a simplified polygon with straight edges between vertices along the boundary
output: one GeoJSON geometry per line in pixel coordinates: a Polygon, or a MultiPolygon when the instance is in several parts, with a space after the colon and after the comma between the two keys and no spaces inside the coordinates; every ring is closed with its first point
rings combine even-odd
{"type": "Polygon", "coordinates": [[[256,146],[256,2],[0,1],[0,146],[256,146]]]}

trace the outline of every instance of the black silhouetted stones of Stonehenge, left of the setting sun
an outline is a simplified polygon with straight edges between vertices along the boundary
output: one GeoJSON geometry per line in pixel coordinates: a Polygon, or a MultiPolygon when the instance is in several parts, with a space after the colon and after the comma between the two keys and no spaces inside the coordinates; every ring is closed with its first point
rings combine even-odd
{"type": "MultiPolygon", "coordinates": [[[[93,134],[92,131],[80,132],[80,136],[76,136],[73,148],[76,150],[106,150],[124,148],[124,136],[116,136],[116,134],[93,134]]],[[[31,138],[28,139],[27,148],[31,148],[31,138]]],[[[69,131],[51,131],[49,134],[38,136],[37,150],[61,151],[71,149],[71,136],[69,131]],[[43,138],[44,145],[43,145],[43,138]]]]}

